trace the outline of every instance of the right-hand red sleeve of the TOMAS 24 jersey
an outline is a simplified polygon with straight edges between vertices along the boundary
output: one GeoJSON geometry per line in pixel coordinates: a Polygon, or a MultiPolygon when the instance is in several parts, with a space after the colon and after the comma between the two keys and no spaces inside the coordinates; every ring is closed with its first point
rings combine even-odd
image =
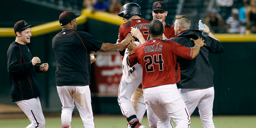
{"type": "Polygon", "coordinates": [[[192,47],[185,47],[183,45],[180,45],[176,43],[175,41],[171,41],[171,45],[173,46],[174,55],[177,56],[177,58],[183,58],[183,59],[192,59],[193,54],[193,48],[192,47]]]}

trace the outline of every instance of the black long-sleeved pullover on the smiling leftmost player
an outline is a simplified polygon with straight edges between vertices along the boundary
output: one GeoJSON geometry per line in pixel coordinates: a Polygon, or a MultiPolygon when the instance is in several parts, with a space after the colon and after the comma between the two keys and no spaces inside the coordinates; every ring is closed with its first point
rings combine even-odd
{"type": "Polygon", "coordinates": [[[33,56],[27,45],[13,42],[7,51],[7,65],[10,74],[12,102],[29,100],[40,96],[36,72],[40,66],[33,66],[33,56]]]}

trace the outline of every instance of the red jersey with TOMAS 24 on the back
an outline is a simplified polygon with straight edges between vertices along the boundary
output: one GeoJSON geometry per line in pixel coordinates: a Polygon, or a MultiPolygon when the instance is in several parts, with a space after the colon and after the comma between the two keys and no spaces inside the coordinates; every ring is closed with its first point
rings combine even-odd
{"type": "Polygon", "coordinates": [[[142,88],[151,88],[180,82],[180,74],[175,69],[176,59],[192,59],[192,53],[192,47],[156,39],[135,47],[127,62],[130,67],[137,63],[142,66],[142,88]]]}

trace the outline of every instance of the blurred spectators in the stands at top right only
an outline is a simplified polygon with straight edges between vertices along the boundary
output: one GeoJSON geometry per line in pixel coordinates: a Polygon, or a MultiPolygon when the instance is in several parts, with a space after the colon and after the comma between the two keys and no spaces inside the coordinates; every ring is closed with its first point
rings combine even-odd
{"type": "Polygon", "coordinates": [[[235,8],[233,0],[217,0],[216,3],[216,8],[204,21],[214,33],[256,33],[256,0],[243,0],[239,8],[235,8]]]}

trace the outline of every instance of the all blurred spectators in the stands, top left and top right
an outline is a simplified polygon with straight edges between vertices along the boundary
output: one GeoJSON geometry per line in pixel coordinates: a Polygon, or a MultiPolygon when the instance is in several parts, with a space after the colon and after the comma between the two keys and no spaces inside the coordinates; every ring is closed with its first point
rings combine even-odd
{"type": "MultiPolygon", "coordinates": [[[[121,12],[123,5],[136,0],[43,0],[70,9],[89,8],[92,12],[121,12]]],[[[153,1],[153,0],[152,0],[153,1]]],[[[161,1],[161,0],[160,0],[161,1]]],[[[141,5],[143,6],[143,5],[141,5]]],[[[256,0],[216,0],[203,23],[214,33],[256,33],[256,0]]]]}

